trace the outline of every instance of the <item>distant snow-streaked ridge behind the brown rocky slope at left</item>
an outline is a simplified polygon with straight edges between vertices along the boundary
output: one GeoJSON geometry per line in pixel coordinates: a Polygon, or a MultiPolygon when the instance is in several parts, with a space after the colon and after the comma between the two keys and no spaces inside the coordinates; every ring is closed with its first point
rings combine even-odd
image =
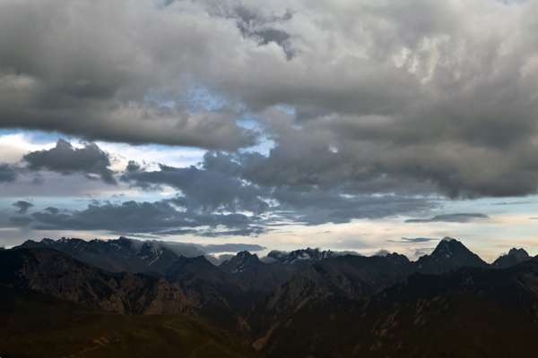
{"type": "MultiPolygon", "coordinates": [[[[179,256],[157,242],[140,242],[120,237],[117,240],[43,239],[28,240],[13,249],[47,247],[64,252],[77,260],[111,273],[131,272],[162,277],[164,270],[179,260],[179,256]]],[[[12,250],[13,250],[12,249],[12,250]]]]}

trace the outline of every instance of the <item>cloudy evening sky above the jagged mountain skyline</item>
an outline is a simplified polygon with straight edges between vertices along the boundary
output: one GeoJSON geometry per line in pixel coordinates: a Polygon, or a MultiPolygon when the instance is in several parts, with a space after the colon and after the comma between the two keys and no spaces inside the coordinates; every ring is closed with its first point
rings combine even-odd
{"type": "Polygon", "coordinates": [[[449,236],[488,261],[536,255],[536,13],[0,2],[0,245],[124,235],[416,260],[449,236]]]}

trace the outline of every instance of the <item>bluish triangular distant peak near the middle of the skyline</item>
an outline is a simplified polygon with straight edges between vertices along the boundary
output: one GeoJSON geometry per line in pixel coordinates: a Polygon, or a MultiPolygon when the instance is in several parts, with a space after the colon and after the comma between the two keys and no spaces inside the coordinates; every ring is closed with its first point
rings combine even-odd
{"type": "Polygon", "coordinates": [[[233,277],[257,301],[286,282],[297,267],[279,262],[264,263],[256,254],[241,251],[222,262],[219,268],[233,277]]]}

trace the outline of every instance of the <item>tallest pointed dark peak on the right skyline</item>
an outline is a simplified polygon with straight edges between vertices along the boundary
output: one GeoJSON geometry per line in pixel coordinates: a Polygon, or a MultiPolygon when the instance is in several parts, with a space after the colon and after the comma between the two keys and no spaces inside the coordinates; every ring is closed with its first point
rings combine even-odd
{"type": "Polygon", "coordinates": [[[445,237],[430,255],[421,256],[413,263],[413,270],[424,274],[439,275],[462,266],[489,267],[484,260],[467,249],[463,243],[445,237]]]}

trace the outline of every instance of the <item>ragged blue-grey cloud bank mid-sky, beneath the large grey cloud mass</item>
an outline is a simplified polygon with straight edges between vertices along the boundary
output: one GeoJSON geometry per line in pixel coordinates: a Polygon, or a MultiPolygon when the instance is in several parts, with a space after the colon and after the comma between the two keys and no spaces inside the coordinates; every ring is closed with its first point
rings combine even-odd
{"type": "MultiPolygon", "coordinates": [[[[273,183],[260,180],[256,175],[264,168],[252,165],[251,158],[257,158],[257,155],[230,157],[219,152],[207,153],[200,168],[161,165],[160,171],[126,171],[120,180],[143,189],[169,185],[183,195],[171,202],[190,210],[204,213],[246,210],[256,215],[273,214],[271,223],[282,219],[308,225],[341,224],[356,218],[390,217],[435,206],[424,198],[411,198],[394,193],[385,196],[369,195],[377,192],[374,190],[377,183],[373,183],[369,190],[364,190],[369,193],[365,195],[357,194],[358,190],[351,185],[324,187],[313,185],[316,181],[288,184],[278,183],[278,178],[273,183]]],[[[237,221],[235,225],[248,220],[239,214],[229,215],[226,219],[237,221]]],[[[244,234],[263,232],[261,228],[250,227],[244,234]]],[[[243,233],[235,231],[229,234],[243,233]]]]}

